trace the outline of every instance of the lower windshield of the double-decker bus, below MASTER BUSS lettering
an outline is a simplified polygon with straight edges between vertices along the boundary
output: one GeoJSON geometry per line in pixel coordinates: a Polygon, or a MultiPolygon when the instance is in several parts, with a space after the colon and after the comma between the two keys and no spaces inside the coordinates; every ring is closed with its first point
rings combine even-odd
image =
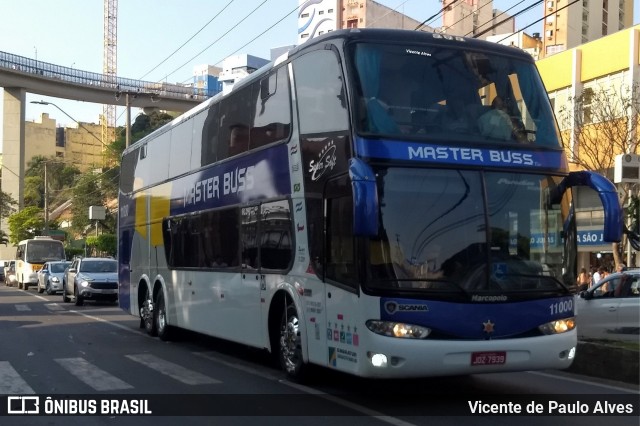
{"type": "Polygon", "coordinates": [[[377,180],[371,289],[515,296],[572,285],[571,194],[554,195],[561,178],[391,167],[377,180]]]}

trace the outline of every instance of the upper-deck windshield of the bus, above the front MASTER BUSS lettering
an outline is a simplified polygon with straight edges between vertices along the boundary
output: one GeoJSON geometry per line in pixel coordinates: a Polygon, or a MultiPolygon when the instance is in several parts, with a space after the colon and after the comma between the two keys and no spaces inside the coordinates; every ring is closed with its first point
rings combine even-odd
{"type": "Polygon", "coordinates": [[[533,61],[423,44],[351,52],[360,134],[560,147],[533,61]]]}

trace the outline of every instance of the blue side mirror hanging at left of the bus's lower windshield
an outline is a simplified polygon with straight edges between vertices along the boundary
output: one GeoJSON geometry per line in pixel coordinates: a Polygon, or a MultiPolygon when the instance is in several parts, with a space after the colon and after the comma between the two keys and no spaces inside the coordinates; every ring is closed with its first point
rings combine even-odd
{"type": "Polygon", "coordinates": [[[358,237],[378,235],[378,191],[371,167],[352,158],[349,177],[353,191],[353,233],[358,237]]]}

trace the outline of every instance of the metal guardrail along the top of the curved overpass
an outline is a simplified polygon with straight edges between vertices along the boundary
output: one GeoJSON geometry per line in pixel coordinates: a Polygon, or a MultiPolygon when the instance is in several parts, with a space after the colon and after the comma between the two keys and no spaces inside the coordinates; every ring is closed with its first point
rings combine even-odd
{"type": "Polygon", "coordinates": [[[142,81],[121,77],[114,78],[105,74],[63,67],[7,52],[0,52],[0,68],[10,69],[14,72],[24,74],[57,79],[71,84],[113,89],[115,92],[122,93],[155,93],[163,97],[182,99],[189,97],[194,100],[205,100],[217,93],[211,90],[205,91],[201,88],[181,86],[179,84],[142,81]]]}

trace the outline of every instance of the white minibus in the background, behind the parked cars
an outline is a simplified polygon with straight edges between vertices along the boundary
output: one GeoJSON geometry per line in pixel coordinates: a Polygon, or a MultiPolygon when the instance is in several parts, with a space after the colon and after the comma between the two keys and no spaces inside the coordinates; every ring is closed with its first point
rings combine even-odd
{"type": "Polygon", "coordinates": [[[28,290],[30,285],[37,285],[38,271],[50,260],[65,260],[62,241],[48,236],[20,241],[16,250],[18,288],[28,290]]]}

